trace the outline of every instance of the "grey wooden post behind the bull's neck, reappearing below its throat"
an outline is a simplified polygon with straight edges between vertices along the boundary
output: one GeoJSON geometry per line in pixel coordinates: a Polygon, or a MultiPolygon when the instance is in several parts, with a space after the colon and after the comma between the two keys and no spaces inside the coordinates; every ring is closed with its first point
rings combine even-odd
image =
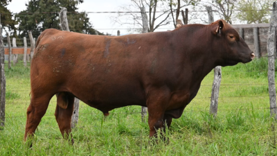
{"type": "MultiPolygon", "coordinates": [[[[213,10],[211,6],[207,6],[206,10],[208,11],[208,22],[213,23],[213,10]]],[[[221,67],[217,66],[214,69],[214,78],[213,78],[213,87],[211,94],[211,106],[210,114],[217,116],[217,105],[218,105],[218,96],[220,94],[220,82],[221,82],[221,67]]]]}

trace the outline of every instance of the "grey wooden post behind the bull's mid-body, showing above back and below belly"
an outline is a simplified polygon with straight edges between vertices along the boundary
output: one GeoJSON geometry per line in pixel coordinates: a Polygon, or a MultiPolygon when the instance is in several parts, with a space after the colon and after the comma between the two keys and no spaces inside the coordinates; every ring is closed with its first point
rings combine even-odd
{"type": "MultiPolygon", "coordinates": [[[[141,17],[143,20],[143,30],[142,33],[148,33],[148,17],[145,12],[145,8],[141,7],[141,17]]],[[[141,121],[145,123],[145,116],[147,114],[148,108],[147,107],[141,107],[141,121]]]]}

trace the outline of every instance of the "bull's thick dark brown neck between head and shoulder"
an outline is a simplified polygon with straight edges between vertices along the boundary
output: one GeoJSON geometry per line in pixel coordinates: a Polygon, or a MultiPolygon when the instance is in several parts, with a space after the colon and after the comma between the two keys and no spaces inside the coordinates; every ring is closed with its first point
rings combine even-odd
{"type": "Polygon", "coordinates": [[[184,26],[176,31],[172,31],[175,40],[175,46],[179,46],[181,57],[184,61],[190,64],[190,68],[184,70],[191,70],[195,79],[200,81],[217,66],[219,56],[213,53],[211,40],[211,31],[208,31],[207,26],[193,25],[184,26]],[[193,27],[193,28],[192,28],[193,27]],[[183,44],[177,44],[181,40],[183,44]]]}

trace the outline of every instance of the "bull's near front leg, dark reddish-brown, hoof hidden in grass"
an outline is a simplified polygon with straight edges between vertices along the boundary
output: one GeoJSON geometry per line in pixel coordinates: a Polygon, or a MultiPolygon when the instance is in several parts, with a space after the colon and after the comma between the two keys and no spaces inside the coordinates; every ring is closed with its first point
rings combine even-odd
{"type": "Polygon", "coordinates": [[[148,106],[149,114],[148,125],[150,128],[150,138],[157,138],[157,131],[161,130],[161,137],[166,139],[163,134],[163,132],[166,132],[164,114],[166,112],[166,108],[168,107],[169,101],[170,94],[168,94],[165,90],[148,93],[146,105],[148,106]]]}

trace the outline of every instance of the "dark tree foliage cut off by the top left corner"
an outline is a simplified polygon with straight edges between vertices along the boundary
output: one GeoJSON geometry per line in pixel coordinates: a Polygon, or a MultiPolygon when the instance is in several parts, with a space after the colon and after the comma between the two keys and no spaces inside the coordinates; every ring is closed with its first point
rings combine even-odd
{"type": "Polygon", "coordinates": [[[3,28],[8,28],[8,31],[13,31],[10,35],[16,37],[17,28],[15,25],[17,22],[12,19],[12,12],[8,10],[7,6],[12,0],[1,0],[0,1],[0,13],[1,13],[1,26],[3,28]]]}

